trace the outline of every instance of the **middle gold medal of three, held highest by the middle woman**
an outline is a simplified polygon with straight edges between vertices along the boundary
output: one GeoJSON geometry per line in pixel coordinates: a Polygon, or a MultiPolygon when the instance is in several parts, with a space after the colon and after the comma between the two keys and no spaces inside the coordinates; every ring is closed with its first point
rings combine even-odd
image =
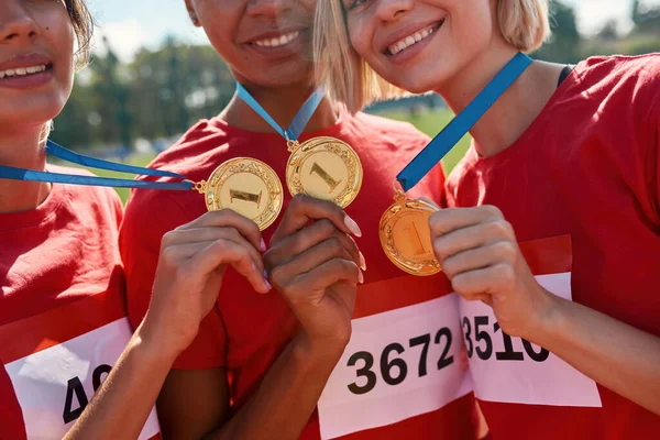
{"type": "Polygon", "coordinates": [[[289,141],[286,184],[292,196],[306,194],[345,208],[362,187],[362,163],[349,144],[334,138],[289,141]]]}

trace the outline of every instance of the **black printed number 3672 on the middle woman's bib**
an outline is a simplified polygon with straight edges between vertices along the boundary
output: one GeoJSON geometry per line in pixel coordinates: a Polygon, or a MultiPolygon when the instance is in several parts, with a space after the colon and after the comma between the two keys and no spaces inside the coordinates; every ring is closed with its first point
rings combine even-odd
{"type": "MultiPolygon", "coordinates": [[[[448,328],[440,329],[436,333],[435,343],[440,344],[442,342],[442,339],[447,339],[447,344],[444,345],[442,354],[437,362],[438,370],[442,370],[446,366],[451,365],[453,363],[453,356],[448,356],[449,350],[451,349],[451,341],[452,341],[451,330],[449,330],[448,328]]],[[[417,345],[422,345],[421,352],[419,355],[419,364],[417,367],[418,377],[424,377],[427,375],[427,356],[428,356],[430,343],[431,343],[431,334],[430,333],[422,334],[417,338],[413,338],[409,341],[410,348],[414,348],[417,345]]],[[[406,364],[405,360],[403,360],[400,358],[394,358],[392,360],[389,359],[392,352],[402,354],[404,351],[406,351],[404,345],[399,344],[398,342],[394,342],[394,343],[391,343],[387,346],[385,346],[385,349],[383,350],[383,353],[381,353],[381,365],[380,365],[381,366],[381,369],[380,369],[381,376],[383,377],[383,381],[385,381],[385,383],[387,385],[392,385],[392,386],[398,385],[402,382],[404,382],[406,380],[406,376],[408,375],[408,365],[406,364]],[[396,375],[393,374],[393,370],[395,367],[396,367],[396,371],[395,371],[396,375]]],[[[352,384],[348,385],[348,387],[351,393],[361,395],[361,394],[366,394],[366,393],[371,392],[372,389],[374,389],[374,387],[376,386],[376,383],[377,383],[377,376],[376,376],[376,373],[374,373],[372,371],[372,367],[374,366],[373,354],[371,354],[367,351],[359,351],[358,353],[353,354],[349,359],[348,365],[355,366],[358,361],[364,362],[364,365],[361,369],[359,369],[356,372],[358,377],[359,378],[365,377],[366,383],[364,385],[360,386],[360,385],[358,385],[358,383],[353,382],[352,384]]]]}

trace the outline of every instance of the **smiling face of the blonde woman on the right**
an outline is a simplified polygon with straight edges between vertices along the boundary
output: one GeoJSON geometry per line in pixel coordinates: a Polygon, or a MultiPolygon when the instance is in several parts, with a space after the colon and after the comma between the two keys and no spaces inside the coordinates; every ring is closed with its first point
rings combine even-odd
{"type": "Polygon", "coordinates": [[[438,90],[504,45],[495,0],[341,0],[351,44],[384,79],[438,90]]]}

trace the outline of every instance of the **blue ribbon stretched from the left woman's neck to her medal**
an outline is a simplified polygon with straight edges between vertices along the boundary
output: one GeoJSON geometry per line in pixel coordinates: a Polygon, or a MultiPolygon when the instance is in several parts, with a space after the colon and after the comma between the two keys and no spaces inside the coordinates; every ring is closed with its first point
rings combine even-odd
{"type": "Polygon", "coordinates": [[[48,182],[54,184],[69,184],[69,185],[88,185],[88,186],[108,186],[113,188],[142,188],[142,189],[169,189],[169,190],[189,190],[193,188],[193,183],[187,180],[185,176],[180,174],[164,172],[160,169],[143,168],[141,166],[132,166],[124,164],[117,164],[114,162],[103,161],[100,158],[85,156],[75,153],[70,150],[65,148],[62,145],[56,144],[53,141],[46,143],[46,153],[58,157],[63,161],[67,161],[74,164],[88,166],[97,169],[108,169],[120,173],[133,173],[143,176],[156,176],[156,177],[175,177],[184,182],[169,183],[169,182],[144,182],[144,180],[132,180],[121,179],[111,177],[97,177],[97,176],[79,176],[74,174],[61,174],[61,173],[48,173],[37,172],[34,169],[14,168],[11,166],[0,165],[0,178],[12,179],[12,180],[30,180],[30,182],[48,182]]]}

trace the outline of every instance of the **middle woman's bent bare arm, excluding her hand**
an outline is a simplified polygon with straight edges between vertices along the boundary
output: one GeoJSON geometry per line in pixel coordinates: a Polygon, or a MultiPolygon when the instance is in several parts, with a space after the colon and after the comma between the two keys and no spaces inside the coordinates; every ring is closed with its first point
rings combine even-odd
{"type": "Polygon", "coordinates": [[[298,336],[231,418],[224,369],[172,370],[158,397],[163,437],[297,439],[341,354],[298,336]]]}

